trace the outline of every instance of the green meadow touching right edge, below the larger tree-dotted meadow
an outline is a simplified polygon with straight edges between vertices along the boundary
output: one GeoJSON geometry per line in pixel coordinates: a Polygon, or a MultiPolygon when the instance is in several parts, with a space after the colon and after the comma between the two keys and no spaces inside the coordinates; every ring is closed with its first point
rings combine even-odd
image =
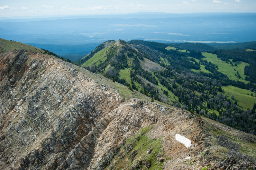
{"type": "Polygon", "coordinates": [[[250,90],[240,89],[234,86],[222,87],[222,89],[230,99],[231,95],[234,94],[234,99],[237,101],[237,104],[239,106],[243,106],[243,108],[252,109],[253,104],[256,103],[256,98],[250,96],[251,93],[253,93],[253,96],[255,96],[255,93],[251,92],[250,90]],[[247,93],[249,95],[247,95],[247,93]]]}

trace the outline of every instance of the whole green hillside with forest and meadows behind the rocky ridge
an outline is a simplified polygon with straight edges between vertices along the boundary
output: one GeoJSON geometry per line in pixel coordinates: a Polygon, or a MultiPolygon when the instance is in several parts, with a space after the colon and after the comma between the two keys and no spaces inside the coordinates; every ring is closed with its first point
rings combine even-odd
{"type": "Polygon", "coordinates": [[[256,133],[255,51],[108,41],[76,63],[172,106],[256,133]],[[107,45],[106,45],[107,44],[107,45]]]}

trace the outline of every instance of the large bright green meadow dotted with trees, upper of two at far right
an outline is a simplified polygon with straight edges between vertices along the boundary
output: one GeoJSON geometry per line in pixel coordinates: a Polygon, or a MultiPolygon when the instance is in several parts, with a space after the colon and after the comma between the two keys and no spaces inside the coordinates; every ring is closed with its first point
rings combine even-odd
{"type": "Polygon", "coordinates": [[[205,58],[203,58],[204,60],[207,60],[208,62],[211,61],[211,63],[215,64],[216,66],[218,66],[220,72],[222,72],[223,74],[226,74],[228,76],[228,78],[230,80],[239,80],[239,81],[243,81],[245,83],[248,83],[249,81],[245,81],[245,74],[244,74],[244,70],[245,70],[245,66],[249,66],[248,63],[245,63],[243,61],[237,61],[237,62],[233,62],[233,64],[237,64],[237,66],[231,66],[231,64],[229,63],[225,63],[222,60],[219,60],[217,58],[216,54],[212,54],[212,53],[207,53],[207,52],[202,52],[203,56],[205,58]],[[236,71],[234,70],[236,69],[236,71]],[[241,78],[243,79],[239,79],[237,76],[235,76],[236,72],[239,72],[239,74],[241,75],[241,78]]]}

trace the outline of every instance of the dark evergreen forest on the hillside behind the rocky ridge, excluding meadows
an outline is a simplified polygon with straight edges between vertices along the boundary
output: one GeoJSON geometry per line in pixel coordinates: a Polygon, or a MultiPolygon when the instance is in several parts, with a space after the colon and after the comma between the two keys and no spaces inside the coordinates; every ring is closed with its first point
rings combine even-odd
{"type": "MultiPolygon", "coordinates": [[[[244,83],[242,81],[230,80],[225,74],[218,71],[218,66],[203,59],[202,51],[216,53],[221,60],[233,64],[230,59],[235,61],[245,61],[250,63],[246,67],[246,79],[253,82],[251,75],[254,75],[252,68],[256,63],[255,53],[250,53],[248,59],[245,51],[217,50],[202,44],[185,44],[189,51],[186,57],[177,50],[166,50],[168,44],[148,42],[142,40],[132,40],[128,44],[120,41],[122,46],[110,46],[105,52],[104,61],[97,66],[90,66],[87,69],[104,74],[107,78],[117,81],[131,90],[137,90],[140,93],[175,107],[192,110],[205,117],[227,124],[245,132],[256,134],[256,114],[255,108],[243,109],[238,106],[234,98],[230,99],[222,92],[222,86],[235,86],[242,89],[256,91],[254,83],[244,83]],[[204,50],[199,50],[203,47],[204,50]],[[236,55],[233,55],[236,54],[236,55]],[[243,57],[241,57],[241,56],[243,57]],[[254,56],[254,58],[253,58],[254,56]],[[147,71],[140,63],[144,58],[160,64],[164,69],[147,71]],[[132,63],[128,60],[132,59],[132,63]],[[198,59],[198,60],[195,60],[198,59]],[[163,60],[165,62],[163,62],[163,60]],[[209,73],[193,72],[191,69],[199,70],[200,64],[205,67],[209,73]],[[104,71],[108,67],[108,71],[104,71]],[[119,78],[119,71],[129,68],[129,79],[119,78]],[[105,73],[104,73],[105,72],[105,73]],[[156,88],[158,84],[166,87],[167,90],[156,88]],[[138,85],[136,85],[138,84],[138,85]],[[140,90],[139,90],[140,89],[140,90]],[[170,92],[172,94],[170,94],[170,92]],[[163,95],[174,95],[174,100],[167,100],[163,95]]],[[[176,46],[181,48],[182,46],[176,46]]],[[[99,47],[99,49],[103,48],[99,47]]],[[[97,50],[96,50],[97,51],[97,50]]],[[[87,59],[94,54],[89,54],[87,59]]]]}

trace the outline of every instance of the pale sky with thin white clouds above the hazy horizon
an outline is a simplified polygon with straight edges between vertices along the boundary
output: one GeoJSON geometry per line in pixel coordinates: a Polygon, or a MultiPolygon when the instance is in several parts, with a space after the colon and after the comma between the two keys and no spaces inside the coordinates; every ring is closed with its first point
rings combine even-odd
{"type": "Polygon", "coordinates": [[[256,12],[256,0],[1,0],[0,17],[58,17],[135,12],[256,12]]]}

